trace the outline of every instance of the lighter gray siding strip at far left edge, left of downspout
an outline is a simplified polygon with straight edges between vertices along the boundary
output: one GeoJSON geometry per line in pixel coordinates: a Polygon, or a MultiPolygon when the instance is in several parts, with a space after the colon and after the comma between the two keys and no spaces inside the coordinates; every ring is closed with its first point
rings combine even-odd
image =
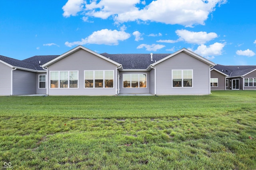
{"type": "Polygon", "coordinates": [[[0,96],[11,95],[12,68],[0,62],[0,96]]]}

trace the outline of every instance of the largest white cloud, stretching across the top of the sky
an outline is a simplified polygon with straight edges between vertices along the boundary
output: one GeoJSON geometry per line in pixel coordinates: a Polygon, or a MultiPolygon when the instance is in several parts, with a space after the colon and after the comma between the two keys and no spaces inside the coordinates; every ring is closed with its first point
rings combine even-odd
{"type": "Polygon", "coordinates": [[[83,0],[68,0],[62,9],[65,17],[81,12],[86,16],[102,19],[112,16],[120,23],[140,20],[193,27],[197,24],[204,25],[204,21],[216,6],[226,2],[227,0],[154,0],[139,9],[136,5],[146,5],[146,1],[92,0],[86,4],[83,0]]]}

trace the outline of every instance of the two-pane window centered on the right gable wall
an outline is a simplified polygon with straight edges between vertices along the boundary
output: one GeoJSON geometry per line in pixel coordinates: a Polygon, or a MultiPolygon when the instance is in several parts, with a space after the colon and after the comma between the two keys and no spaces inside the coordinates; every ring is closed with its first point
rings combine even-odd
{"type": "Polygon", "coordinates": [[[193,70],[172,70],[172,87],[192,87],[193,70]]]}

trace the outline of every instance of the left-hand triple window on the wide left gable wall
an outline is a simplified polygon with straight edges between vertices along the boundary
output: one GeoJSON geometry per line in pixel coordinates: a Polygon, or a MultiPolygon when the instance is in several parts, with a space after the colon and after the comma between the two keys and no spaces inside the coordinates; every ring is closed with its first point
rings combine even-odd
{"type": "Polygon", "coordinates": [[[78,88],[78,71],[51,71],[50,88],[78,88]]]}

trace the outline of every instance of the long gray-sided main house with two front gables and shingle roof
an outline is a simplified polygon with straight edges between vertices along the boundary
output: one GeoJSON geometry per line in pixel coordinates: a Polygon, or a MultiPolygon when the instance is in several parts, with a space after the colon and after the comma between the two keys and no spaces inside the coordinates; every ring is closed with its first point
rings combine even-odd
{"type": "Polygon", "coordinates": [[[215,64],[187,50],[98,54],[83,46],[23,61],[0,56],[0,95],[204,95],[215,64]]]}

